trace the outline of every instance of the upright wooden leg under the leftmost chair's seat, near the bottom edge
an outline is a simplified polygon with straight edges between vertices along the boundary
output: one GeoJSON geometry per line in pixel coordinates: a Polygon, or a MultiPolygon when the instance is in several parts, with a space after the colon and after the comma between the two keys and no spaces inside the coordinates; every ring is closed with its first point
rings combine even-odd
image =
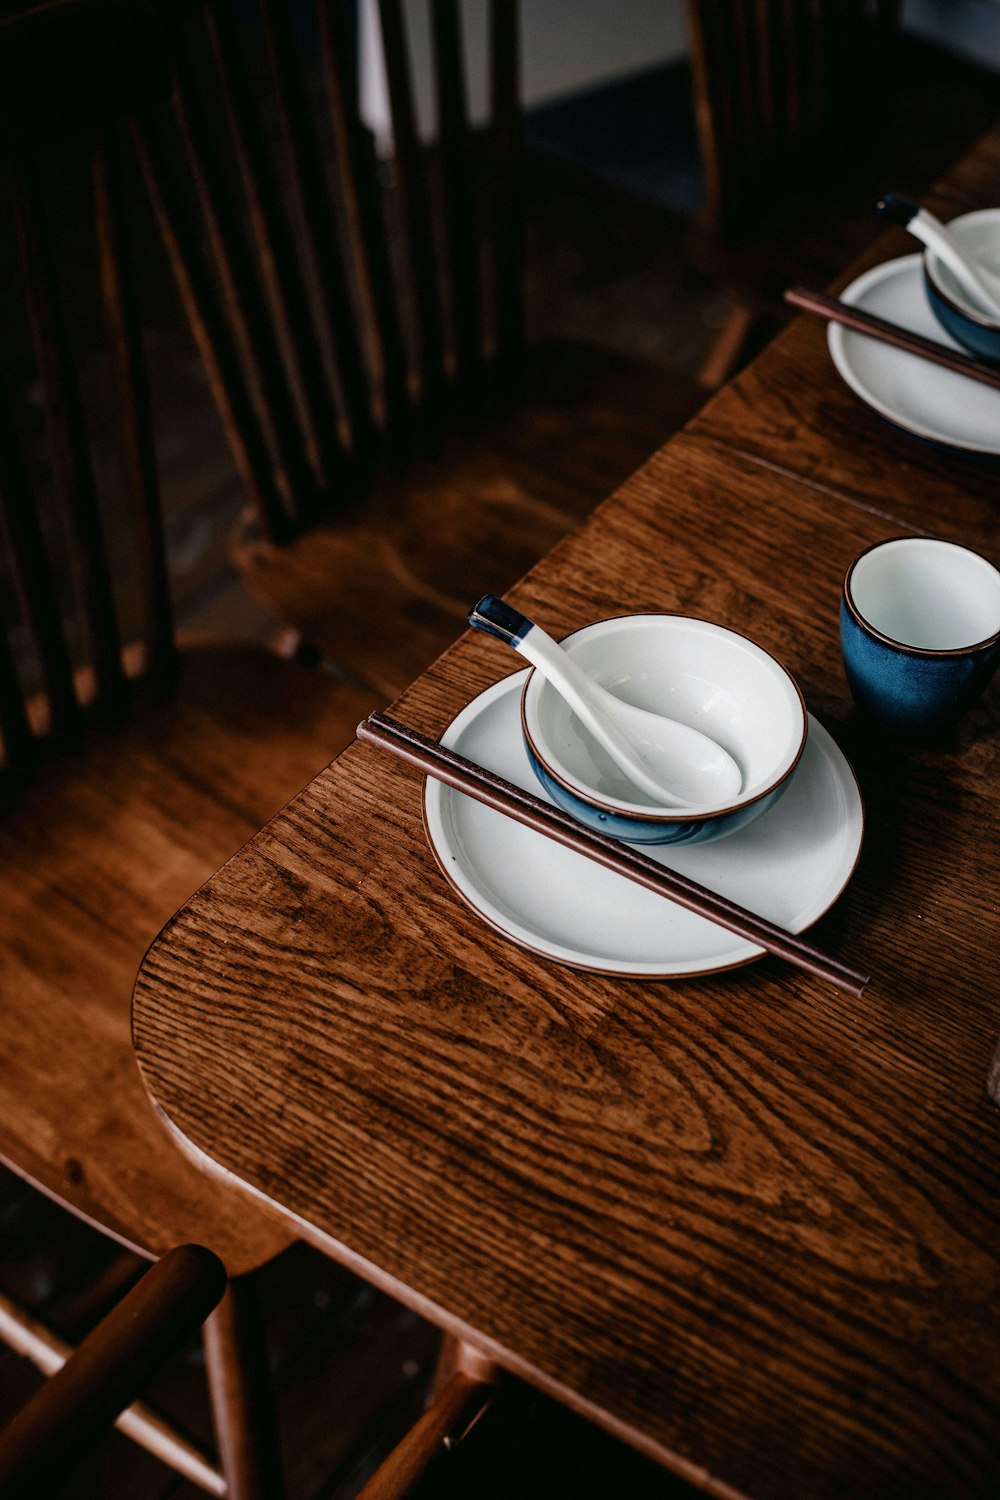
{"type": "Polygon", "coordinates": [[[229,1500],[280,1500],[277,1422],[252,1278],[231,1281],[202,1335],[219,1461],[229,1500]]]}

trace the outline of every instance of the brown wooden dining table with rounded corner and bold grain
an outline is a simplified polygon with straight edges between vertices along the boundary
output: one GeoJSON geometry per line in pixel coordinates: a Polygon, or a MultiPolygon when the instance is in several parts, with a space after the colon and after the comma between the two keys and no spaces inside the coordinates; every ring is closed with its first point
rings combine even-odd
{"type": "MultiPolygon", "coordinates": [[[[963,180],[1000,200],[997,140],[963,180]]],[[[999,1492],[1000,694],[946,746],[879,741],[837,632],[870,543],[990,550],[999,478],[880,423],[799,320],[510,596],[556,634],[682,610],[787,663],[867,802],[814,928],[874,969],[861,1000],[772,958],[648,982],[514,946],[360,744],[136,982],[148,1088],[208,1166],[715,1496],[999,1492]]],[[[466,634],[394,712],[438,735],[510,670],[466,634]]]]}

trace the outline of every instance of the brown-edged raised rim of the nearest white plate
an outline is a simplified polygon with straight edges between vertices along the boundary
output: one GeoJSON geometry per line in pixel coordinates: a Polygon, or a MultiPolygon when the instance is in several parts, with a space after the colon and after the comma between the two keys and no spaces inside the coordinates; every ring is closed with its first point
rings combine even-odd
{"type": "MultiPolygon", "coordinates": [[[[493,682],[490,687],[484,688],[481,693],[477,693],[475,698],[472,698],[450,720],[450,723],[447,724],[447,728],[442,730],[442,734],[439,736],[439,742],[441,744],[448,744],[450,742],[448,736],[456,736],[456,735],[462,734],[462,730],[466,728],[466,723],[469,723],[472,718],[477,717],[478,712],[481,712],[484,708],[489,706],[487,700],[493,700],[495,698],[501,698],[504,694],[504,692],[517,693],[519,687],[523,684],[523,680],[528,676],[529,672],[531,672],[531,668],[528,668],[525,670],[519,670],[519,672],[511,672],[508,676],[499,678],[499,681],[493,682]]],[[[855,798],[856,798],[858,840],[856,840],[856,846],[855,846],[855,850],[853,850],[853,856],[850,860],[850,868],[846,872],[846,874],[844,874],[840,886],[834,891],[834,894],[831,896],[831,898],[826,902],[826,904],[819,912],[816,912],[813,915],[808,915],[807,920],[802,921],[802,922],[799,922],[798,926],[789,927],[789,932],[792,932],[795,934],[808,932],[808,928],[813,927],[816,922],[819,922],[832,909],[832,906],[840,900],[840,897],[844,894],[844,891],[847,890],[847,885],[853,879],[853,874],[855,874],[855,872],[858,868],[858,861],[861,860],[861,850],[864,848],[864,838],[865,838],[865,802],[864,802],[864,796],[862,796],[862,792],[861,792],[861,786],[859,786],[855,768],[852,766],[850,760],[847,759],[847,756],[844,754],[844,752],[840,748],[840,746],[837,744],[837,741],[834,740],[834,736],[831,735],[831,732],[825,728],[825,724],[822,724],[813,714],[810,714],[808,717],[810,717],[811,726],[817,728],[822,732],[822,735],[825,736],[825,740],[829,741],[829,746],[832,747],[832,752],[834,752],[835,765],[840,762],[840,765],[843,766],[843,771],[841,771],[841,786],[844,788],[846,795],[850,792],[850,789],[853,789],[853,794],[855,794],[855,798]],[[846,772],[846,777],[843,776],[843,772],[846,772]]],[[[829,754],[829,750],[826,750],[826,753],[829,754]]],[[[567,950],[561,948],[561,945],[553,944],[550,946],[543,946],[543,945],[540,945],[537,942],[531,942],[529,938],[522,936],[520,932],[519,933],[513,933],[508,927],[505,927],[501,921],[498,921],[492,914],[484,912],[471,898],[471,896],[462,888],[462,885],[459,885],[459,882],[454,879],[453,873],[448,870],[447,860],[444,858],[442,850],[438,848],[438,843],[435,840],[435,836],[433,836],[432,826],[430,826],[430,824],[432,824],[430,801],[432,801],[432,798],[436,798],[438,802],[441,802],[441,798],[447,792],[451,792],[453,795],[459,795],[459,794],[454,794],[454,790],[451,788],[445,786],[441,782],[436,782],[430,776],[424,780],[424,788],[423,788],[423,792],[421,792],[421,816],[423,816],[424,837],[426,837],[427,844],[430,848],[430,852],[432,852],[432,856],[435,860],[435,864],[438,866],[438,870],[444,876],[447,886],[453,891],[454,896],[459,897],[459,900],[462,902],[462,904],[468,910],[471,910],[478,918],[478,921],[481,921],[486,927],[489,927],[492,932],[499,933],[501,938],[504,938],[507,942],[514,944],[517,948],[520,948],[520,950],[523,950],[526,952],[532,952],[537,957],[547,958],[550,963],[558,963],[558,964],[561,964],[564,968],[576,969],[576,970],[583,972],[583,974],[598,974],[598,975],[603,975],[606,978],[619,978],[619,980],[696,980],[696,978],[705,978],[706,975],[711,975],[711,974],[726,974],[726,972],[729,972],[732,969],[742,969],[747,964],[757,963],[760,958],[766,957],[766,950],[765,948],[760,948],[760,946],[757,946],[754,944],[750,944],[750,942],[744,942],[742,946],[739,950],[736,950],[736,954],[738,954],[736,957],[732,957],[732,958],[729,958],[726,962],[721,962],[721,963],[709,963],[709,964],[697,968],[697,969],[694,969],[694,968],[682,968],[682,969],[666,968],[664,969],[663,966],[654,966],[654,964],[649,964],[649,966],[645,966],[645,968],[643,966],[637,966],[637,968],[613,968],[613,966],[609,966],[607,963],[588,962],[586,957],[573,957],[573,954],[568,952],[567,950]],[[555,952],[553,948],[561,948],[561,951],[555,952]]],[[[502,814],[499,814],[499,816],[502,816],[502,814]]]]}

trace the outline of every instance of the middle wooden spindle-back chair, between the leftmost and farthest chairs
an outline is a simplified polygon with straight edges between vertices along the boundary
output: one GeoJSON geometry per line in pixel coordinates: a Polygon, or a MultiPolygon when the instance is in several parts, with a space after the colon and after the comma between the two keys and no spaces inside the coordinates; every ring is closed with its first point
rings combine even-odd
{"type": "Polygon", "coordinates": [[[393,693],[700,396],[595,350],[523,358],[516,0],[490,0],[481,130],[457,0],[432,0],[430,147],[403,8],[379,0],[388,160],[360,116],[351,9],[300,6],[310,50],[288,0],[190,8],[169,33],[171,108],[135,136],[250,501],[243,578],[393,693]]]}

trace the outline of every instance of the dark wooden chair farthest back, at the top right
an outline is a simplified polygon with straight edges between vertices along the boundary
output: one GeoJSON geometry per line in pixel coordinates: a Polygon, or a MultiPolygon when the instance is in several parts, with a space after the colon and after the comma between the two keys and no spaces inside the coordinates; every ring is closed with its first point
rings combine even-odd
{"type": "Polygon", "coordinates": [[[904,36],[898,0],[688,0],[687,14],[705,172],[690,250],[732,308],[700,376],[715,388],[787,321],[786,286],[822,288],[871,242],[889,186],[927,194],[990,126],[1000,87],[904,36]]]}

